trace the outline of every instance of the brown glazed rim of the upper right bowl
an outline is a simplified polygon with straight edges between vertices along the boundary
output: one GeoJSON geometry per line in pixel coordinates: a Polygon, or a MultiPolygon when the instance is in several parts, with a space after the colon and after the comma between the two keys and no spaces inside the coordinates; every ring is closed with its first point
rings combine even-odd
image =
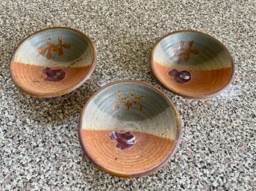
{"type": "Polygon", "coordinates": [[[187,98],[193,98],[193,99],[203,99],[203,98],[207,98],[207,97],[213,97],[213,96],[216,96],[216,94],[219,94],[221,93],[222,91],[225,90],[225,88],[228,88],[228,85],[231,84],[231,82],[234,80],[234,60],[230,54],[230,52],[228,51],[228,48],[225,47],[225,45],[222,44],[222,42],[220,42],[218,39],[216,39],[215,37],[213,36],[210,36],[208,35],[207,33],[202,33],[200,31],[196,31],[196,30],[177,30],[177,31],[174,31],[174,32],[170,32],[170,33],[166,33],[166,35],[162,36],[160,39],[157,40],[157,42],[154,44],[153,48],[152,48],[152,51],[149,55],[149,66],[150,66],[150,69],[152,71],[152,74],[154,76],[154,78],[157,80],[157,82],[160,83],[160,85],[162,85],[164,88],[166,88],[168,91],[171,91],[173,94],[177,94],[179,96],[182,96],[182,97],[187,97],[187,98]],[[218,91],[215,91],[213,93],[210,93],[210,94],[201,94],[201,95],[194,95],[194,94],[184,94],[184,93],[181,93],[179,91],[175,91],[175,89],[173,88],[169,88],[169,86],[165,85],[165,83],[161,80],[161,77],[157,76],[157,73],[154,69],[154,60],[153,60],[153,55],[154,55],[154,49],[157,47],[157,45],[160,43],[160,41],[162,41],[164,38],[166,38],[167,36],[170,36],[172,34],[175,34],[175,33],[199,33],[199,34],[202,34],[202,35],[205,35],[205,36],[208,36],[210,37],[211,39],[215,40],[217,43],[219,43],[219,45],[222,46],[222,48],[226,51],[226,53],[228,53],[228,56],[230,57],[231,59],[231,68],[232,68],[232,74],[231,74],[231,77],[230,79],[228,80],[228,82],[222,87],[220,88],[218,91]]]}

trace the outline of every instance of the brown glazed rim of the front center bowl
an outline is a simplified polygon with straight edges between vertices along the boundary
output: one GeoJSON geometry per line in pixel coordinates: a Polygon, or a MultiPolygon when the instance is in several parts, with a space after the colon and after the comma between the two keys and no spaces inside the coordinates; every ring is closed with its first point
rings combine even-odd
{"type": "Polygon", "coordinates": [[[169,97],[166,96],[166,94],[163,93],[163,91],[160,91],[158,88],[154,87],[154,85],[151,85],[147,82],[141,82],[141,81],[137,81],[137,80],[119,80],[116,82],[111,82],[107,85],[104,85],[104,87],[100,88],[98,91],[96,91],[96,93],[93,94],[92,97],[90,97],[89,100],[87,100],[87,103],[85,103],[81,114],[79,116],[79,120],[78,120],[78,137],[79,137],[79,141],[81,144],[82,149],[84,150],[84,154],[87,155],[87,157],[90,159],[90,161],[92,161],[92,163],[97,166],[99,169],[101,169],[104,172],[109,173],[110,175],[115,175],[115,176],[119,176],[122,178],[135,178],[135,177],[141,177],[144,175],[149,175],[152,172],[157,171],[157,169],[160,169],[164,164],[166,164],[170,158],[172,158],[172,155],[174,155],[175,151],[178,148],[178,144],[180,143],[181,140],[181,117],[178,113],[178,110],[176,109],[175,105],[172,103],[172,100],[169,99],[169,97]],[[175,143],[173,145],[172,150],[169,152],[169,154],[166,156],[166,158],[163,159],[163,161],[160,161],[159,164],[157,164],[156,166],[153,166],[150,169],[146,169],[144,171],[141,172],[130,172],[130,173],[124,173],[124,172],[117,172],[115,170],[112,169],[108,169],[107,167],[105,167],[103,164],[100,164],[98,161],[96,161],[92,155],[90,155],[90,152],[87,149],[87,146],[85,145],[83,138],[82,138],[82,118],[84,116],[84,111],[87,108],[88,103],[90,103],[91,100],[93,100],[93,98],[96,96],[96,94],[99,93],[99,91],[102,91],[104,88],[108,88],[111,85],[115,85],[115,84],[119,84],[119,83],[137,83],[137,84],[142,84],[142,85],[146,85],[149,88],[152,88],[154,91],[157,91],[157,93],[159,93],[160,95],[162,95],[166,101],[169,103],[169,106],[173,109],[173,111],[175,112],[175,120],[176,120],[176,128],[177,128],[177,132],[175,135],[175,143]]]}

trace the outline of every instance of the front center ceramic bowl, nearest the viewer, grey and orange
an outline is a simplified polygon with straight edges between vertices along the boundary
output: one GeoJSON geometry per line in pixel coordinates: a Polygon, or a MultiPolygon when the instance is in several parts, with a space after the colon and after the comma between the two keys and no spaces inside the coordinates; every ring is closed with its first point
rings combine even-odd
{"type": "Polygon", "coordinates": [[[138,177],[171,158],[181,137],[181,120],[157,88],[124,80],[104,86],[87,101],[78,135],[85,154],[99,169],[138,177]]]}

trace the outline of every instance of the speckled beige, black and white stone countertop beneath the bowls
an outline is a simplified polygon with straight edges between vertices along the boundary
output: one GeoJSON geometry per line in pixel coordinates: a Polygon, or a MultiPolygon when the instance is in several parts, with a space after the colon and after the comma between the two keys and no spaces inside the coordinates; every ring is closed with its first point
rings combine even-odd
{"type": "Polygon", "coordinates": [[[255,23],[251,1],[0,2],[0,190],[256,190],[255,23]],[[96,71],[81,88],[37,99],[10,80],[13,49],[44,27],[67,26],[96,43],[96,71]],[[234,82],[222,94],[190,100],[165,91],[149,70],[149,51],[181,29],[215,36],[231,51],[234,82]],[[183,120],[181,144],[166,166],[143,178],[96,169],[78,142],[78,114],[97,89],[122,79],[161,88],[183,120]]]}

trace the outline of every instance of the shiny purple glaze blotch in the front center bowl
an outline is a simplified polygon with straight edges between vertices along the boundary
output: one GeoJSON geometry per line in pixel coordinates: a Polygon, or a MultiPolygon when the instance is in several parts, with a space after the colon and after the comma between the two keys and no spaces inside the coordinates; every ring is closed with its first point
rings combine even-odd
{"type": "Polygon", "coordinates": [[[112,132],[110,140],[116,141],[116,149],[124,150],[134,146],[135,137],[131,132],[112,132]]]}

